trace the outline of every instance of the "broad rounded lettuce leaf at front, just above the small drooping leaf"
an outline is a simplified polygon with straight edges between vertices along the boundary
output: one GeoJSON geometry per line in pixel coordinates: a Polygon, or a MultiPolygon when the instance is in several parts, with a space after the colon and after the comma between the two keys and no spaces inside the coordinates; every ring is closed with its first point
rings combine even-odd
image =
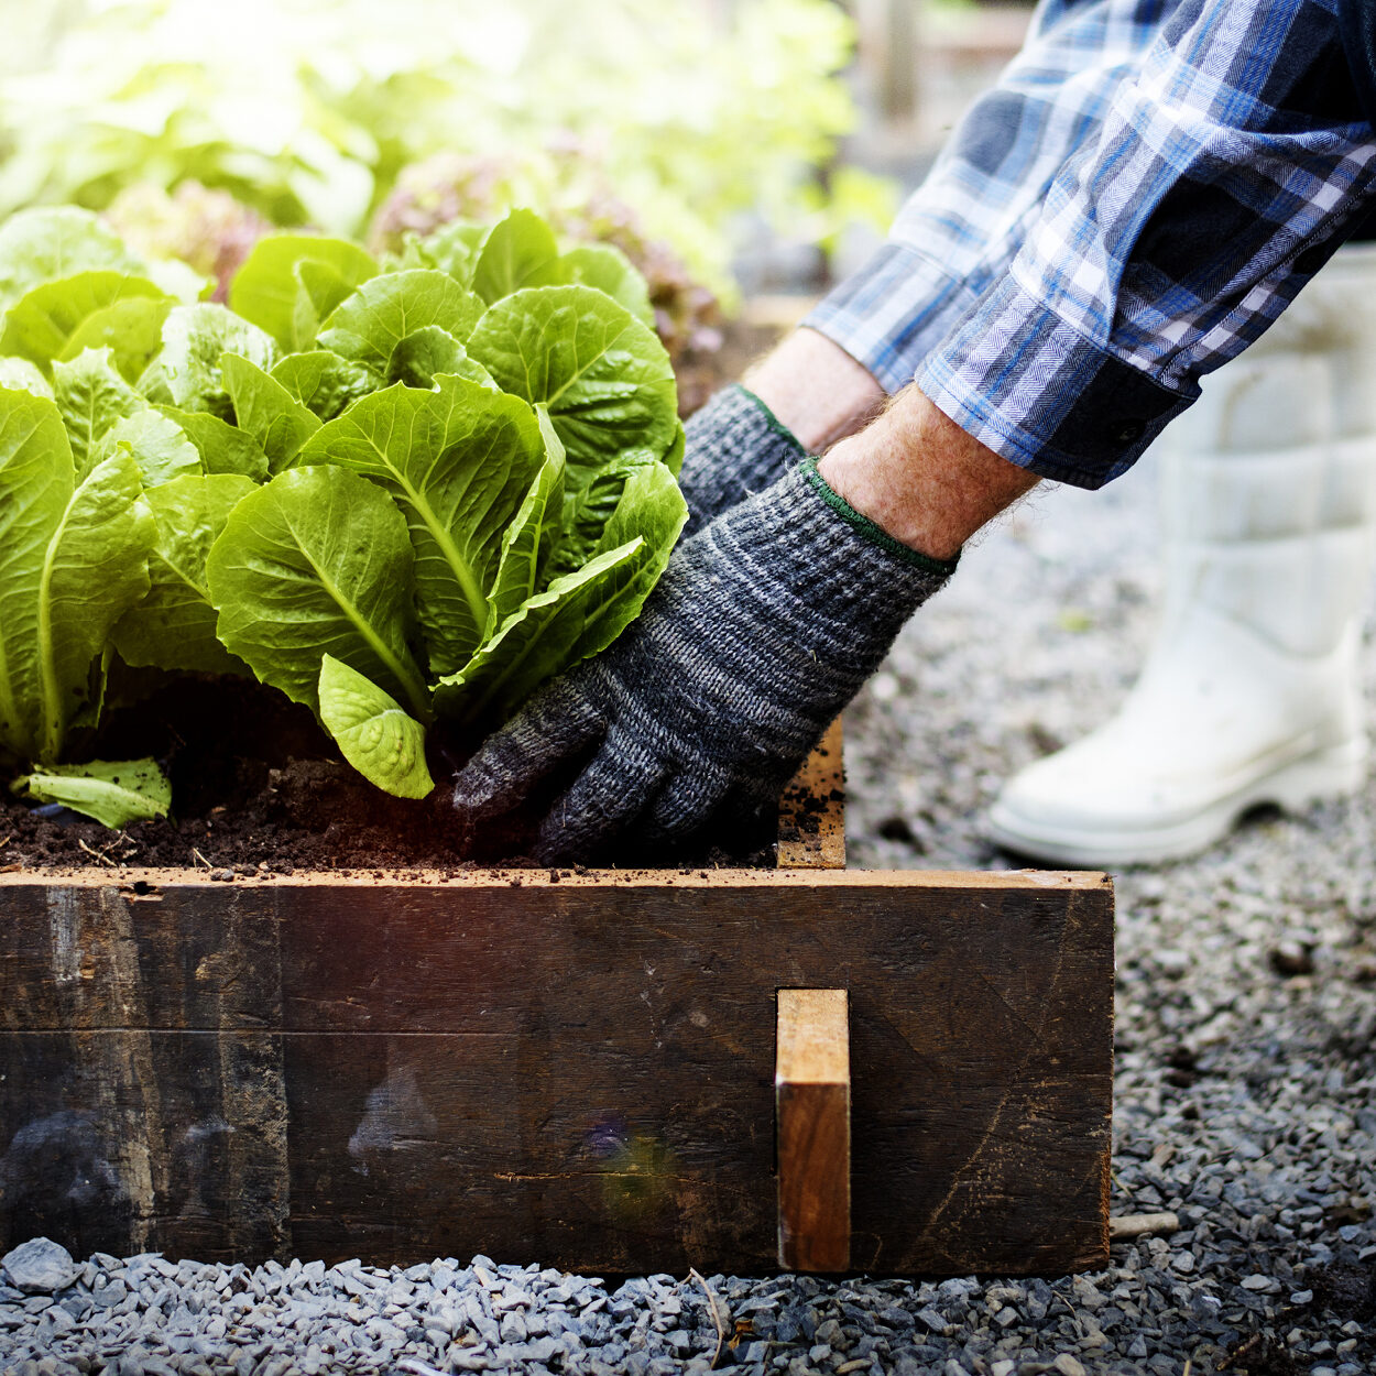
{"type": "Polygon", "coordinates": [[[414,561],[406,519],[376,483],[334,465],[288,469],[239,501],[211,548],[220,643],[316,711],[333,655],[428,720],[409,645],[414,561]]]}

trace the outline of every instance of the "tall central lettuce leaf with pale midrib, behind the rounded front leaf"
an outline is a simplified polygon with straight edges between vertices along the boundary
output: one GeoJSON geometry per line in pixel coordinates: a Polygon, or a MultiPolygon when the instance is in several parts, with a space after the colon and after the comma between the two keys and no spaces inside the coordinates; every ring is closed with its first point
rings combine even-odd
{"type": "Polygon", "coordinates": [[[416,594],[431,669],[449,673],[483,638],[502,535],[545,461],[531,409],[458,377],[395,385],[355,402],[303,447],[387,488],[416,548],[416,594]]]}

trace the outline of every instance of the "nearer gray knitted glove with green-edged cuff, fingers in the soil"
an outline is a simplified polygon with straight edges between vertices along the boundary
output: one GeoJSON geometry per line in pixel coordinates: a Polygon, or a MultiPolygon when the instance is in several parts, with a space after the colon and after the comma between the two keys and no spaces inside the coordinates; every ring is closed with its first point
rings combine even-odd
{"type": "Polygon", "coordinates": [[[779,797],[954,564],[853,512],[810,460],[674,552],[640,619],[542,688],[460,772],[490,817],[590,754],[537,859],[681,843],[779,797]]]}

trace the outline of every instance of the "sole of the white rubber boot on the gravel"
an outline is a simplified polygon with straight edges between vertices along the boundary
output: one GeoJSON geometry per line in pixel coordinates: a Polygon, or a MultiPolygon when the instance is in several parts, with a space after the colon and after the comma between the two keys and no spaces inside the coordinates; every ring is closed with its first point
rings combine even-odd
{"type": "Polygon", "coordinates": [[[989,809],[985,834],[1006,850],[1053,864],[1088,868],[1156,864],[1207,849],[1227,835],[1249,808],[1274,804],[1287,812],[1296,812],[1322,798],[1350,797],[1361,790],[1365,780],[1366,742],[1357,739],[1304,755],[1165,826],[1123,831],[1050,831],[996,802],[989,809]]]}

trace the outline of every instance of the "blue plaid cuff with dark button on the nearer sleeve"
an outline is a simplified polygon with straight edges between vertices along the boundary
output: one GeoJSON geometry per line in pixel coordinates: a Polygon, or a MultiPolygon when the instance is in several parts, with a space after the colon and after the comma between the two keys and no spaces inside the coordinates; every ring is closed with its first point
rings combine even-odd
{"type": "Polygon", "coordinates": [[[919,366],[923,394],[966,433],[1042,477],[1097,488],[1127,472],[1198,396],[1171,391],[996,282],[919,366]]]}

